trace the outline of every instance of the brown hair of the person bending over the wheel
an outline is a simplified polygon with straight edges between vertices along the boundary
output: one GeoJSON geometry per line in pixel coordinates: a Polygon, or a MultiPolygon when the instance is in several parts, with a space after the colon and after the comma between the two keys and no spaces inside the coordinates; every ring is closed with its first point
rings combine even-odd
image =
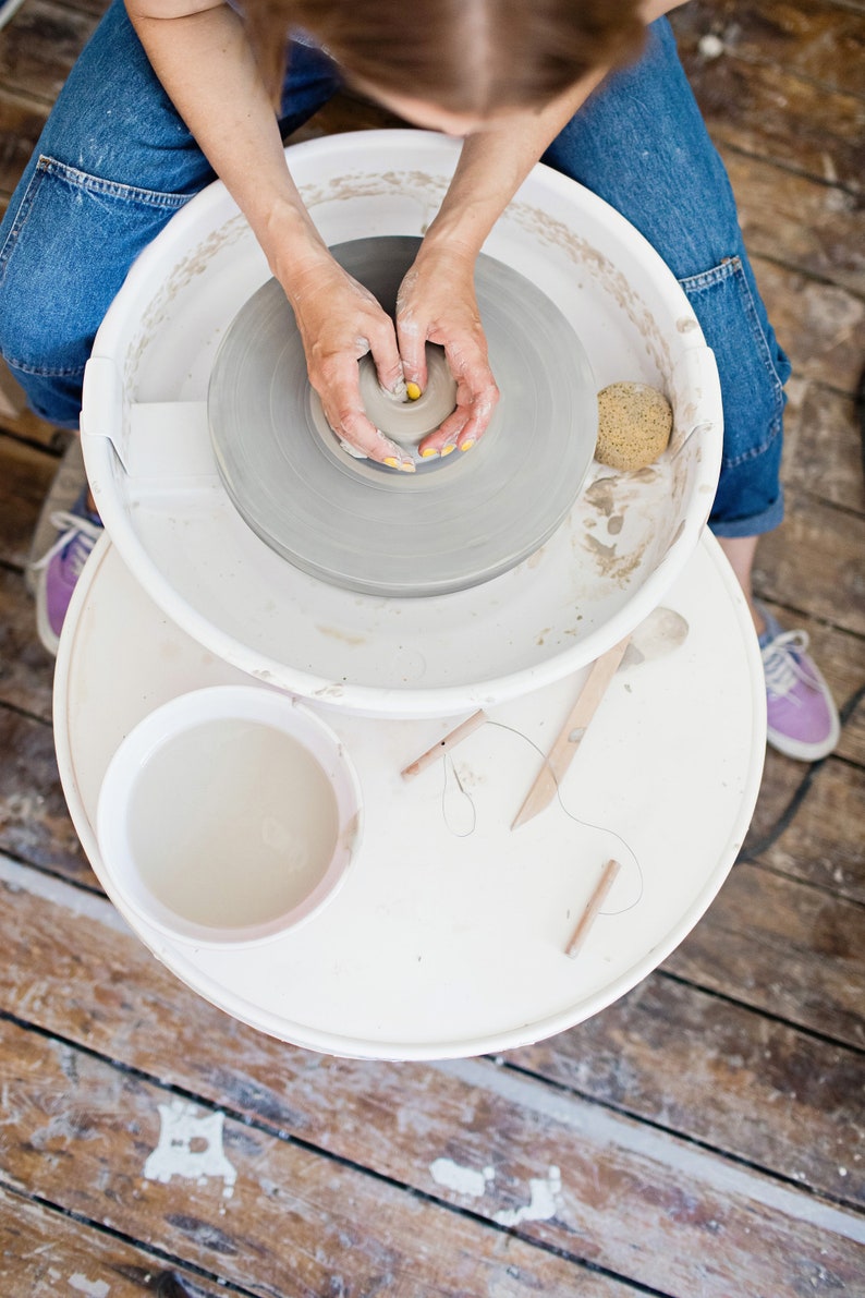
{"type": "Polygon", "coordinates": [[[549,103],[633,57],[645,31],[639,0],[246,0],[245,12],[271,92],[300,27],[368,87],[480,116],[549,103]]]}

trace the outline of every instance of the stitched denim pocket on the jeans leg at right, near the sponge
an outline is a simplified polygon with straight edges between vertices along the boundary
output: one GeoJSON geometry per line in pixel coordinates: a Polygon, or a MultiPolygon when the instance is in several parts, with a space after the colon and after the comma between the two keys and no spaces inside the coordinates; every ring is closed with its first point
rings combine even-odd
{"type": "Polygon", "coordinates": [[[764,456],[781,436],[790,361],[741,257],[680,280],[715,352],[724,401],[724,459],[764,456]]]}

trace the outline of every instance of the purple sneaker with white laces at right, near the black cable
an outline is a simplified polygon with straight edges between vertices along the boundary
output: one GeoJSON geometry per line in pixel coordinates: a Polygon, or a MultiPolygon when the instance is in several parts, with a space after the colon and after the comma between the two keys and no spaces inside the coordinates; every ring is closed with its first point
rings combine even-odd
{"type": "Polygon", "coordinates": [[[835,701],[820,668],[807,653],[804,631],[785,631],[760,607],[766,630],[760,636],[766,681],[768,732],[773,748],[799,762],[827,757],[840,736],[835,701]]]}

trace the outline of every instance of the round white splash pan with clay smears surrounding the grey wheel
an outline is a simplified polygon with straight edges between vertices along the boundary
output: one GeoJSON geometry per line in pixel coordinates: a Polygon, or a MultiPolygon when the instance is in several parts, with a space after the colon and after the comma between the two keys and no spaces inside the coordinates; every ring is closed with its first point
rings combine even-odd
{"type": "MultiPolygon", "coordinates": [[[[329,243],[423,234],[459,153],[418,131],[293,145],[287,157],[329,243]]],[[[598,387],[663,388],[664,457],[638,475],[595,467],[537,554],[485,585],[383,600],[293,569],[246,527],[206,423],[217,347],[270,271],[220,183],[141,254],[87,366],[87,474],[123,561],[218,658],[292,693],[371,716],[447,716],[585,666],[651,609],[693,554],[721,457],[712,352],[672,273],[607,204],[538,166],[485,251],[538,284],[586,348],[598,387]]]]}

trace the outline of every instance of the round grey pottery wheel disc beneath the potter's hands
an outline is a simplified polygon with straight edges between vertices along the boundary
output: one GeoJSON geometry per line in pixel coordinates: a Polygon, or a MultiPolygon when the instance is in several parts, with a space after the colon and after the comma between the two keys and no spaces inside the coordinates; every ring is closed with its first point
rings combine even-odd
{"type": "MultiPolygon", "coordinates": [[[[383,236],[331,251],[393,314],[419,243],[383,236]]],[[[510,266],[481,256],[476,292],[499,405],[471,450],[416,457],[414,474],[355,458],[327,427],[275,279],[243,306],[214,362],[207,415],[226,489],[271,549],[350,591],[445,594],[515,567],[564,520],[595,448],[589,361],[558,308],[510,266]]],[[[367,396],[362,362],[367,413],[375,400],[373,422],[407,448],[453,409],[444,353],[431,347],[428,358],[434,382],[416,411],[406,404],[393,421],[388,411],[401,404],[380,389],[367,396]],[[429,428],[419,432],[419,418],[432,419],[429,428]]]]}

